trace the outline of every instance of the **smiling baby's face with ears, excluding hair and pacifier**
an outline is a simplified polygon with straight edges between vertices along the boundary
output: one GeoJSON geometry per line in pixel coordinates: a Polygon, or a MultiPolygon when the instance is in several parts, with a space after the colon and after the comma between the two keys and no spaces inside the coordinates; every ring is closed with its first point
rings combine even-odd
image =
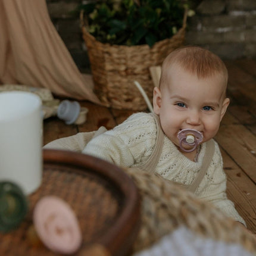
{"type": "Polygon", "coordinates": [[[167,137],[177,146],[182,129],[198,130],[202,142],[213,138],[229,105],[224,90],[220,75],[198,79],[182,68],[171,71],[168,85],[154,90],[154,111],[167,137]]]}

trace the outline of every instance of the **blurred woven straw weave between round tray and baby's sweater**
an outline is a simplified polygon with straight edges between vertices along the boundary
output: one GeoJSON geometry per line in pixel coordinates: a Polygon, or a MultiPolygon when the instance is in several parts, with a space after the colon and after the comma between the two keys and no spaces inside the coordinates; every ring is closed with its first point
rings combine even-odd
{"type": "Polygon", "coordinates": [[[133,246],[135,252],[152,246],[180,226],[186,226],[199,236],[235,243],[256,255],[255,235],[209,202],[196,198],[158,174],[138,168],[123,170],[132,177],[142,197],[142,224],[133,246]]]}

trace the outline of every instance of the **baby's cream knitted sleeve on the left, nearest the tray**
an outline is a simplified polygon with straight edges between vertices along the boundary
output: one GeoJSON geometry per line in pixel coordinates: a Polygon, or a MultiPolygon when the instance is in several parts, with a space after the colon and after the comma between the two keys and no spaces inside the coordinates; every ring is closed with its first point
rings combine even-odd
{"type": "Polygon", "coordinates": [[[154,117],[137,113],[113,130],[93,138],[82,152],[118,166],[136,166],[151,155],[156,137],[154,117]]]}

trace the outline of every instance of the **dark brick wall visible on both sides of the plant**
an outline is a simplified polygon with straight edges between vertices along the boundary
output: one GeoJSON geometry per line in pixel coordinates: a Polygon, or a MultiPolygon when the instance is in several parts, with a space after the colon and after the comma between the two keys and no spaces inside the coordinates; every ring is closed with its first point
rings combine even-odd
{"type": "MultiPolygon", "coordinates": [[[[79,17],[81,0],[46,0],[49,15],[80,69],[89,67],[79,17]]],[[[186,43],[200,45],[226,60],[256,58],[256,0],[194,0],[186,43]]]]}

